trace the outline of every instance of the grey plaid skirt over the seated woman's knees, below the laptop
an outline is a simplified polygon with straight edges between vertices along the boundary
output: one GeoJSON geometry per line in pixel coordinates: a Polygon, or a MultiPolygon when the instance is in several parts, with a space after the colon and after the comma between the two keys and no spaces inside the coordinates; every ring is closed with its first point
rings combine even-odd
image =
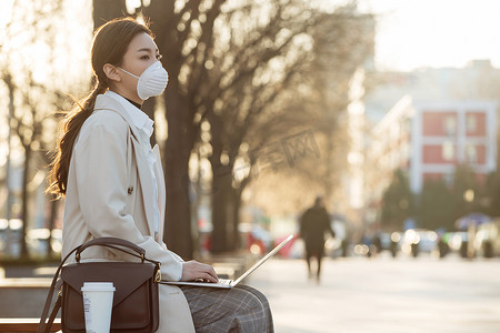
{"type": "Polygon", "coordinates": [[[248,285],[232,289],[181,286],[199,333],[272,333],[271,309],[266,296],[248,285]]]}

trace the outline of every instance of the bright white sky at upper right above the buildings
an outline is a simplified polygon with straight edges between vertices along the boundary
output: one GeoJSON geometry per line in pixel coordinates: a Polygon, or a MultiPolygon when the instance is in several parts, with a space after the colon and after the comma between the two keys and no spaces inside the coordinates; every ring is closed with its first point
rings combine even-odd
{"type": "Polygon", "coordinates": [[[490,59],[500,65],[500,1],[362,0],[377,14],[376,63],[381,69],[463,67],[490,59]]]}

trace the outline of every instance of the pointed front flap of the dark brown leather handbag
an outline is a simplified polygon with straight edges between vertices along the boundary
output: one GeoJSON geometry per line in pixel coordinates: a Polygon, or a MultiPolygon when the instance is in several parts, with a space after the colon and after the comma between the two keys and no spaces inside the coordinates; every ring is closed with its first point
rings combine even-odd
{"type": "Polygon", "coordinates": [[[116,306],[144,282],[153,279],[154,273],[156,265],[149,262],[86,262],[64,265],[61,279],[80,294],[84,282],[112,282],[116,306]]]}

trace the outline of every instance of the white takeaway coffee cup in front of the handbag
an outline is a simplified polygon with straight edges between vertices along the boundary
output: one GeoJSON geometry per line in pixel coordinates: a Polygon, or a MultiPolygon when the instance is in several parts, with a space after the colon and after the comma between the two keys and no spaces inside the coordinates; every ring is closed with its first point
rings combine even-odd
{"type": "Polygon", "coordinates": [[[109,333],[113,306],[112,282],[86,282],[81,287],[87,333],[109,333]]]}

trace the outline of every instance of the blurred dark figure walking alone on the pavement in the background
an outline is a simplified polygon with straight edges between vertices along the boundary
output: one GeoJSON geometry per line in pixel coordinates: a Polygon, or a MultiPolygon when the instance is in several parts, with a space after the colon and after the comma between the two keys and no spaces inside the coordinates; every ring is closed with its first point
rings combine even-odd
{"type": "Polygon", "coordinates": [[[323,206],[322,198],[317,196],[314,205],[309,208],[300,219],[300,236],[306,244],[306,261],[309,279],[314,276],[311,271],[311,259],[317,259],[316,279],[320,281],[321,260],[324,255],[324,233],[329,232],[333,238],[336,233],[330,225],[330,216],[323,206]]]}

